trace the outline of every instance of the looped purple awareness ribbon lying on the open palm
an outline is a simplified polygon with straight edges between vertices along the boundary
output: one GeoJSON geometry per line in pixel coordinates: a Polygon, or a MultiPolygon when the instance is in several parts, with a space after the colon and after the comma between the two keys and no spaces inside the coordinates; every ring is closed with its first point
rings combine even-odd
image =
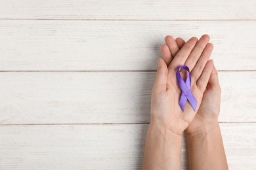
{"type": "Polygon", "coordinates": [[[176,78],[177,78],[178,84],[182,91],[181,98],[179,101],[179,105],[181,107],[182,112],[184,112],[187,99],[188,99],[188,102],[190,103],[190,105],[192,106],[192,108],[194,109],[194,111],[196,111],[196,105],[198,105],[198,102],[196,101],[194,95],[190,91],[191,77],[190,77],[189,69],[186,65],[181,65],[178,68],[178,70],[176,72],[176,78]],[[186,71],[188,71],[188,77],[186,78],[186,82],[184,82],[184,80],[181,77],[181,73],[180,73],[181,69],[185,69],[186,71]]]}

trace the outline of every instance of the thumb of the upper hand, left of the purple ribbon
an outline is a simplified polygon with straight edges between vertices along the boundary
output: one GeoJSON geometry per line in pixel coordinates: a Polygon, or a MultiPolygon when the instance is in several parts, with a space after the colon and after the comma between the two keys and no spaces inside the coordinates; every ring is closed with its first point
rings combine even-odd
{"type": "Polygon", "coordinates": [[[156,72],[156,78],[154,83],[154,88],[160,88],[161,90],[166,90],[168,69],[165,61],[163,59],[158,59],[158,71],[156,72]]]}

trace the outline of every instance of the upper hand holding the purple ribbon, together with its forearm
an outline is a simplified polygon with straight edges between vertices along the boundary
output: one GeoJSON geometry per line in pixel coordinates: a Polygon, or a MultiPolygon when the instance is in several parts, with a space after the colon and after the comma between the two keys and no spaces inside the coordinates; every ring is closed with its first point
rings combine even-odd
{"type": "Polygon", "coordinates": [[[175,58],[170,59],[168,67],[163,59],[158,60],[143,169],[181,169],[181,135],[196,116],[213,69],[213,61],[208,61],[212,50],[211,46],[207,47],[208,41],[203,39],[202,45],[196,37],[192,37],[175,54],[175,58]],[[198,106],[194,111],[186,104],[182,112],[179,107],[181,90],[177,84],[176,70],[186,61],[191,62],[190,67],[196,68],[191,71],[190,90],[198,106]]]}

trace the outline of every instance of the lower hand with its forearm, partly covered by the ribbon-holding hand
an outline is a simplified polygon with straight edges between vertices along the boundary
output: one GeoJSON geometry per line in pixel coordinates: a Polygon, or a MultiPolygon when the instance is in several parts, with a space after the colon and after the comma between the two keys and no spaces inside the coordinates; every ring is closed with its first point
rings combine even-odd
{"type": "MultiPolygon", "coordinates": [[[[173,37],[166,37],[167,46],[162,46],[162,54],[165,58],[171,58],[166,53],[166,47],[171,48],[173,54],[182,48],[184,41],[173,37]],[[176,43],[175,43],[176,42],[176,43]],[[177,48],[177,46],[179,48],[177,48]]],[[[170,48],[169,48],[170,50],[170,48]]],[[[165,59],[165,62],[167,60],[165,59]]],[[[218,123],[218,116],[221,105],[221,86],[218,73],[213,67],[209,82],[203,93],[203,100],[194,120],[186,128],[188,149],[190,158],[190,169],[228,169],[226,155],[224,152],[221,129],[218,123]]]]}

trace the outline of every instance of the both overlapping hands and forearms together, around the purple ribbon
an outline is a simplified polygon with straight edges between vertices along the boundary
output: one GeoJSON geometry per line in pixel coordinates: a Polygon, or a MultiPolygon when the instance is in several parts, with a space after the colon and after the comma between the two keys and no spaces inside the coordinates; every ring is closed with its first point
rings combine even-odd
{"type": "Polygon", "coordinates": [[[181,135],[185,129],[190,169],[228,169],[217,121],[221,88],[213,61],[208,60],[213,50],[209,36],[203,35],[199,41],[192,37],[188,42],[167,36],[165,42],[152,90],[142,169],[181,169],[181,135]],[[179,107],[181,90],[175,76],[179,65],[190,69],[190,90],[198,101],[196,111],[188,102],[184,112],[179,107]]]}

